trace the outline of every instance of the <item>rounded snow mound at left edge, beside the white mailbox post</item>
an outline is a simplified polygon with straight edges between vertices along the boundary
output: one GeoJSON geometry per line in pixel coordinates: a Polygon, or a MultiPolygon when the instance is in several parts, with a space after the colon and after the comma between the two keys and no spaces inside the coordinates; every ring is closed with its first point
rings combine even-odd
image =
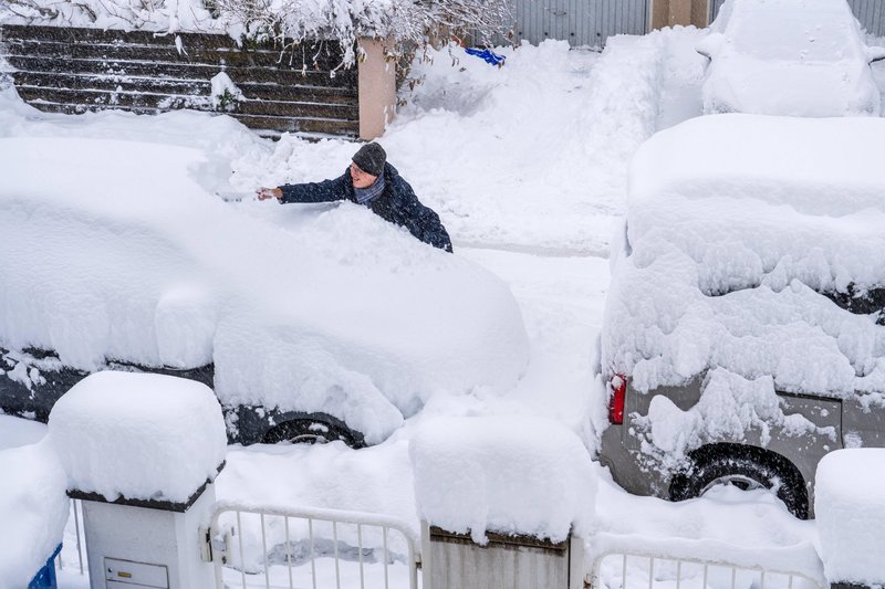
{"type": "Polygon", "coordinates": [[[62,541],[65,476],[46,441],[0,450],[0,587],[27,587],[62,541]]]}

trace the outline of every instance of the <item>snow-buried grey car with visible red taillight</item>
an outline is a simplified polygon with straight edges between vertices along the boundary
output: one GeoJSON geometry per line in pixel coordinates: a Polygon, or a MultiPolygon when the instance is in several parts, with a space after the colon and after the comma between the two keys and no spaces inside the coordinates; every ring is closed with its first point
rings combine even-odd
{"type": "Polygon", "coordinates": [[[636,152],[601,335],[601,462],[684,499],[885,446],[885,120],[698,117],[636,152]]]}

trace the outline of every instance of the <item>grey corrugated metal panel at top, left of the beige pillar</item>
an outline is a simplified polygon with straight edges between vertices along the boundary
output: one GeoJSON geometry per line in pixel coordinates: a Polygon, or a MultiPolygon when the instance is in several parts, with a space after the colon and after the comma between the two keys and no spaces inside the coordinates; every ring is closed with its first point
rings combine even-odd
{"type": "Polygon", "coordinates": [[[514,0],[516,42],[568,40],[572,46],[602,46],[618,33],[644,34],[648,0],[514,0]]]}

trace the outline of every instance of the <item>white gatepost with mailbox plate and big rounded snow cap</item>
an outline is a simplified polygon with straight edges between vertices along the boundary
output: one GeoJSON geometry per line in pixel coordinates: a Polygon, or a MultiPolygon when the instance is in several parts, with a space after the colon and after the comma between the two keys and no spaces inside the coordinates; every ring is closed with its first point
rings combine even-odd
{"type": "Polygon", "coordinates": [[[92,587],[209,589],[202,558],[227,437],[211,389],[104,371],[62,397],[50,439],[82,499],[92,587]]]}

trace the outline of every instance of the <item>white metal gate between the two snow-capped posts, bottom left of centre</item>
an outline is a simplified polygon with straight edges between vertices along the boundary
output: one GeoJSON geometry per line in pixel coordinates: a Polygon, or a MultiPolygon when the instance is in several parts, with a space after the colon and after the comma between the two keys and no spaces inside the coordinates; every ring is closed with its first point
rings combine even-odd
{"type": "Polygon", "coordinates": [[[418,589],[420,540],[395,517],[220,505],[208,535],[219,589],[418,589]]]}

